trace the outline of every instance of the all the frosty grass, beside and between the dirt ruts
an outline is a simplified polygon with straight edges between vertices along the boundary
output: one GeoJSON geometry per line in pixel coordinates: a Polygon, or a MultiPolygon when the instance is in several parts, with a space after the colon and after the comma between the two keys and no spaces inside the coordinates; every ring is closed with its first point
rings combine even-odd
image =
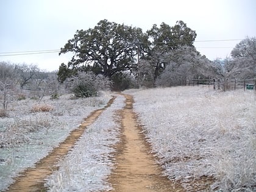
{"type": "MultiPolygon", "coordinates": [[[[208,191],[256,190],[256,94],[253,90],[218,91],[208,87],[126,90],[155,160],[184,191],[210,185],[208,191]],[[205,179],[208,178],[208,179],[205,179]],[[200,183],[204,180],[207,183],[200,183]]],[[[124,97],[44,98],[49,112],[32,112],[37,101],[10,104],[0,118],[0,191],[18,172],[43,158],[65,140],[93,110],[112,97],[113,104],[87,127],[74,148],[46,179],[49,191],[108,191],[115,169],[113,152],[121,126],[118,110],[124,97]]]]}

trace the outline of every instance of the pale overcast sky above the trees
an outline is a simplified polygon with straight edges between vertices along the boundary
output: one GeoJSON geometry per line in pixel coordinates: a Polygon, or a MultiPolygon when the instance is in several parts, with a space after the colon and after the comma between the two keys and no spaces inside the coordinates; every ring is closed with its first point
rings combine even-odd
{"type": "Polygon", "coordinates": [[[70,54],[3,55],[60,49],[77,29],[93,28],[104,19],[143,32],[153,24],[174,26],[182,20],[196,30],[194,45],[210,60],[229,56],[247,36],[256,37],[255,0],[0,0],[0,62],[57,70],[70,54]]]}

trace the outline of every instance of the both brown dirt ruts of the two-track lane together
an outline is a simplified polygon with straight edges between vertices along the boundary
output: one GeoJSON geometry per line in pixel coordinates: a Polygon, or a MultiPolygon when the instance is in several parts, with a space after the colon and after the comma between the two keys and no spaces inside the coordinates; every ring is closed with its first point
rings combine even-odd
{"type": "MultiPolygon", "coordinates": [[[[162,169],[155,163],[152,154],[149,154],[150,146],[146,143],[142,129],[138,126],[137,118],[133,112],[133,98],[130,95],[123,95],[126,98],[126,107],[119,110],[122,125],[121,142],[116,148],[116,169],[109,176],[112,191],[183,191],[179,185],[174,185],[167,177],[161,175],[162,169]]],[[[115,98],[110,99],[109,107],[115,98]]],[[[79,128],[71,132],[68,138],[55,148],[51,154],[37,163],[35,168],[29,168],[23,172],[23,176],[16,179],[10,185],[9,191],[46,191],[43,187],[44,178],[49,176],[57,167],[56,163],[63,157],[74,143],[84,133],[87,126],[94,122],[103,112],[104,108],[96,110],[85,119],[79,128]]]]}

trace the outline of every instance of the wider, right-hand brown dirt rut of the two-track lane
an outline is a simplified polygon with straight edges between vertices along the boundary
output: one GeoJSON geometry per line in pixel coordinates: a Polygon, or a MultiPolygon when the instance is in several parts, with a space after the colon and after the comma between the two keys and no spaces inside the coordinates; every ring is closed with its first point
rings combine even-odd
{"type": "Polygon", "coordinates": [[[125,94],[126,107],[121,113],[121,142],[116,146],[116,169],[108,178],[112,191],[183,191],[167,177],[162,176],[162,168],[157,165],[154,156],[149,153],[142,129],[138,126],[133,112],[133,98],[125,94]]]}

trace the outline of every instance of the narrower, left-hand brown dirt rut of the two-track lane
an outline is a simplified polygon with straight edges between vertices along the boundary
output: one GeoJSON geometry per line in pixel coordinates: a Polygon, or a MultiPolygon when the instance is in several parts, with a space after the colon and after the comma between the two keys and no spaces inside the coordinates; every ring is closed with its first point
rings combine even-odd
{"type": "Polygon", "coordinates": [[[21,176],[16,177],[15,182],[9,186],[7,191],[46,191],[44,179],[58,169],[56,166],[58,161],[68,153],[69,149],[73,148],[85,129],[101,115],[105,108],[110,107],[115,98],[115,96],[112,96],[112,99],[108,101],[104,108],[94,110],[91,115],[84,119],[84,123],[69,133],[65,141],[54,148],[48,156],[36,163],[35,168],[27,168],[24,172],[21,172],[21,176]]]}

